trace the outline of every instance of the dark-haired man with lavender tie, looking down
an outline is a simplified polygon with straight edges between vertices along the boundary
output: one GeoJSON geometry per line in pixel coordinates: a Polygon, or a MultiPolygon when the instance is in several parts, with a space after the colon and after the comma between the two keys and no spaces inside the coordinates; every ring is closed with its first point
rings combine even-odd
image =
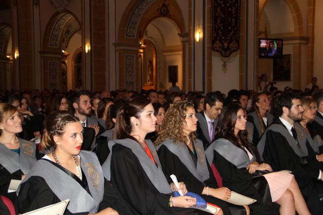
{"type": "Polygon", "coordinates": [[[214,131],[218,123],[218,117],[223,108],[224,99],[216,92],[207,93],[204,99],[204,110],[197,113],[197,138],[203,142],[206,149],[214,138],[214,131]]]}

